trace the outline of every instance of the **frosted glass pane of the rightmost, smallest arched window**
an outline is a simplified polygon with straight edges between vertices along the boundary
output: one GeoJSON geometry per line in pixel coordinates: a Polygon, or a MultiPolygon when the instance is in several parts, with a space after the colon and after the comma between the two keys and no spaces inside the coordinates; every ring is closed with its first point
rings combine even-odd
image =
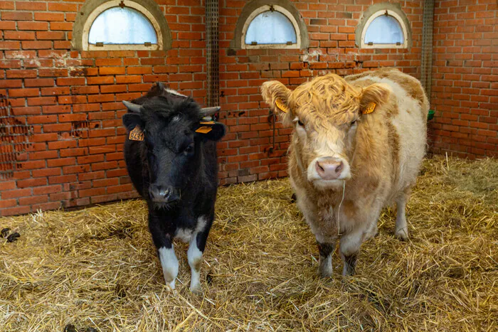
{"type": "Polygon", "coordinates": [[[393,16],[378,16],[366,28],[365,43],[396,44],[404,43],[403,29],[393,16]]]}

